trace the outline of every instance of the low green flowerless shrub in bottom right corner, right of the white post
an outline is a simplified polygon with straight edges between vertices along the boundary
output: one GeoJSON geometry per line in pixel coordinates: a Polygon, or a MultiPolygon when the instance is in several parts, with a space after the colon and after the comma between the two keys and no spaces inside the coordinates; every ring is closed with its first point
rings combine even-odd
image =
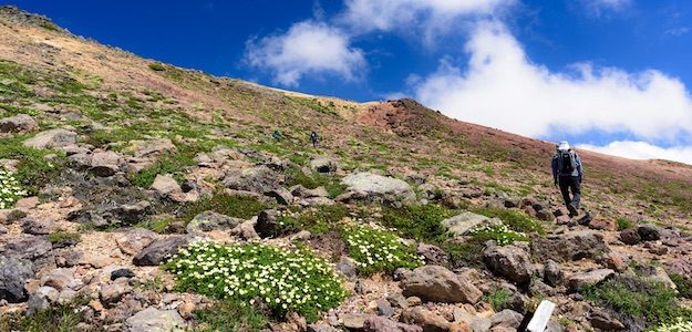
{"type": "Polygon", "coordinates": [[[692,311],[680,305],[674,290],[640,277],[618,276],[585,289],[583,294],[589,301],[612,309],[623,319],[648,325],[674,322],[681,317],[692,318],[692,311]]]}

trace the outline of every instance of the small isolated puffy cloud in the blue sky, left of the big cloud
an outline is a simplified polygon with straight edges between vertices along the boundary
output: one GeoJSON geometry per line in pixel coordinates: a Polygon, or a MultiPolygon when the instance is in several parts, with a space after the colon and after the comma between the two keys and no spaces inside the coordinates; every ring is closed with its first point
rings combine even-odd
{"type": "Polygon", "coordinates": [[[314,21],[296,23],[285,34],[248,41],[245,60],[269,70],[275,82],[285,86],[297,86],[303,75],[335,74],[354,81],[366,69],[363,52],[350,46],[347,34],[314,21]]]}

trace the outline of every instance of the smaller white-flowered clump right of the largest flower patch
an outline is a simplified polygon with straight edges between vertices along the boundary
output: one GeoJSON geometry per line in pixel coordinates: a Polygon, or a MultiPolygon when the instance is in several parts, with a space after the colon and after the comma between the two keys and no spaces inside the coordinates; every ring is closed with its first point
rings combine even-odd
{"type": "Polygon", "coordinates": [[[349,256],[355,260],[361,274],[379,271],[392,272],[397,268],[414,269],[424,264],[415,253],[415,246],[384,229],[369,226],[350,226],[343,229],[349,256]]]}

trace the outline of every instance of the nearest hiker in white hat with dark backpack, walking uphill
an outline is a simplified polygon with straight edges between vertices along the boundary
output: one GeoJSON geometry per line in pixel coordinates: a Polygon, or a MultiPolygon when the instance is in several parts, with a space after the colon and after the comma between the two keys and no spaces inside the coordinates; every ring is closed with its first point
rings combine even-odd
{"type": "Polygon", "coordinates": [[[571,149],[566,141],[557,145],[557,152],[552,156],[552,179],[555,185],[560,185],[560,191],[565,199],[565,205],[569,210],[569,217],[579,215],[579,201],[581,200],[581,178],[583,168],[581,159],[571,149]],[[572,197],[569,197],[571,190],[572,197]]]}

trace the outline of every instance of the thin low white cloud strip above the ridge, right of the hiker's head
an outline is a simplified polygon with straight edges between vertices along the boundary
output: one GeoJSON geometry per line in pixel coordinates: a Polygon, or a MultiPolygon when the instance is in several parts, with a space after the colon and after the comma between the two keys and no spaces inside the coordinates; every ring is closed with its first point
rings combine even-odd
{"type": "Polygon", "coordinates": [[[668,159],[692,165],[692,146],[659,147],[645,142],[618,141],[606,146],[582,144],[577,147],[630,159],[668,159]]]}

